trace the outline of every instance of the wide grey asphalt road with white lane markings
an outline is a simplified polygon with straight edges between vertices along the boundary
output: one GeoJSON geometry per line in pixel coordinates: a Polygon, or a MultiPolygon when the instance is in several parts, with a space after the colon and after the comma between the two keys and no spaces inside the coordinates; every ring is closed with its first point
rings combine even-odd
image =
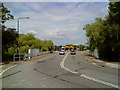
{"type": "Polygon", "coordinates": [[[3,67],[2,88],[118,88],[118,70],[100,67],[81,56],[59,55],[3,67]]]}

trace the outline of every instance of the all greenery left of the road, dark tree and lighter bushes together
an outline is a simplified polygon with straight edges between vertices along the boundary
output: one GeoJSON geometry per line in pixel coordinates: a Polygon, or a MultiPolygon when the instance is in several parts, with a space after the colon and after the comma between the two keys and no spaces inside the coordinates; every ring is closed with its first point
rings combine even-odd
{"type": "MultiPolygon", "coordinates": [[[[0,18],[2,19],[0,23],[5,23],[7,20],[14,19],[14,16],[10,14],[11,11],[0,3],[0,18]]],[[[17,33],[14,28],[8,28],[5,30],[5,26],[2,27],[2,59],[12,60],[13,55],[16,53],[16,48],[18,44],[19,53],[27,53],[28,49],[39,49],[40,51],[48,51],[54,49],[54,44],[51,40],[40,40],[35,38],[35,34],[20,34],[17,37],[17,33]]]]}

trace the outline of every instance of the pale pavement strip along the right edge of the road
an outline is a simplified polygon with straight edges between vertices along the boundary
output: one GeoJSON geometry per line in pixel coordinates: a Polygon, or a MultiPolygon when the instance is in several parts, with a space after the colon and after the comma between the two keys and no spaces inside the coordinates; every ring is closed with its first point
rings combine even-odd
{"type": "Polygon", "coordinates": [[[111,68],[115,68],[115,69],[120,69],[120,63],[118,63],[118,62],[107,62],[107,61],[103,61],[103,60],[100,60],[100,59],[96,59],[95,57],[90,56],[87,51],[81,52],[81,55],[87,61],[89,61],[89,62],[91,62],[95,65],[99,65],[99,66],[102,66],[102,67],[111,67],[111,68]]]}

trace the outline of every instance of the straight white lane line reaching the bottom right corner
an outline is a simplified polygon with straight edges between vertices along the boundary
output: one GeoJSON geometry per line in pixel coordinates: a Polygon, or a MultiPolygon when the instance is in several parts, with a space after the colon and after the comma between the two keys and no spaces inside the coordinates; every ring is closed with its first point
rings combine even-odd
{"type": "Polygon", "coordinates": [[[92,80],[92,81],[107,85],[107,86],[111,86],[111,87],[114,87],[114,88],[119,88],[118,85],[115,85],[115,84],[112,84],[112,83],[109,83],[109,82],[105,82],[105,81],[102,81],[102,80],[99,80],[99,79],[95,79],[95,78],[86,76],[84,74],[81,74],[80,76],[83,77],[83,78],[86,78],[86,79],[89,79],[89,80],[92,80]]]}

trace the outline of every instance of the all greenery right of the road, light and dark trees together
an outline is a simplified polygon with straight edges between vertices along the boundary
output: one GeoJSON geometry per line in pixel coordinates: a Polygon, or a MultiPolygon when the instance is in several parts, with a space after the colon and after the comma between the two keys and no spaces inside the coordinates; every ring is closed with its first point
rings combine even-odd
{"type": "Polygon", "coordinates": [[[98,49],[99,57],[110,61],[120,59],[120,2],[109,4],[109,15],[96,18],[84,26],[90,50],[98,49]],[[119,20],[119,21],[118,21],[119,20]]]}

